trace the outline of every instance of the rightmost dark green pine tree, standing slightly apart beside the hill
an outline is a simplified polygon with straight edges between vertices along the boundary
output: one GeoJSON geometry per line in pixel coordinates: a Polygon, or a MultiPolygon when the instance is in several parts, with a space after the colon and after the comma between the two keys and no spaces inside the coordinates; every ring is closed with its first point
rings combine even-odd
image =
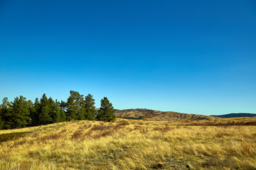
{"type": "Polygon", "coordinates": [[[112,103],[104,97],[102,98],[101,107],[99,113],[97,113],[97,120],[105,121],[105,122],[114,122],[114,107],[112,103]]]}

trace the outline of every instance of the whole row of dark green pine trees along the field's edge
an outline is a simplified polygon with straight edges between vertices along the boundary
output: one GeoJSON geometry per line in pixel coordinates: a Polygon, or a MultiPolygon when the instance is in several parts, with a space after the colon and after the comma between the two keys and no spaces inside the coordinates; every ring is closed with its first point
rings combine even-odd
{"type": "Polygon", "coordinates": [[[0,105],[0,130],[25,128],[37,125],[48,125],[67,120],[115,120],[112,103],[104,97],[99,111],[95,109],[95,99],[91,94],[81,95],[78,91],[70,91],[68,100],[57,101],[43,94],[35,102],[27,101],[25,97],[8,101],[4,98],[0,105]]]}

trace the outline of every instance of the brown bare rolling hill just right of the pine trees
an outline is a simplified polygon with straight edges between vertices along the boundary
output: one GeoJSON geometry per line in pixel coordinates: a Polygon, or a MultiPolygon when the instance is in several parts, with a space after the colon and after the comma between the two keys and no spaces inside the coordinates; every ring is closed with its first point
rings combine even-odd
{"type": "Polygon", "coordinates": [[[207,115],[195,115],[177,113],[171,111],[154,111],[146,108],[125,109],[114,113],[117,118],[162,120],[162,121],[188,121],[188,120],[213,120],[214,117],[207,115]]]}

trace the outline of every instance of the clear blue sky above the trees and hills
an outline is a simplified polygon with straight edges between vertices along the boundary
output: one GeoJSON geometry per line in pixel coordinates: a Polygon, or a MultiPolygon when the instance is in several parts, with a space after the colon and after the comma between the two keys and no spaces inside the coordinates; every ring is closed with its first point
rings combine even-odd
{"type": "Polygon", "coordinates": [[[0,0],[0,75],[0,100],[256,113],[256,2],[0,0]]]}

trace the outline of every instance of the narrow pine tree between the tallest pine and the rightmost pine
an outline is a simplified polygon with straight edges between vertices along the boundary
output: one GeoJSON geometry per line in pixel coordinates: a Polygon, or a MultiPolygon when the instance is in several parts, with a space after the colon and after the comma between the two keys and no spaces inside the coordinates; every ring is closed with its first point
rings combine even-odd
{"type": "Polygon", "coordinates": [[[87,96],[85,96],[85,104],[84,104],[84,108],[85,108],[85,119],[86,120],[95,120],[95,99],[92,98],[91,94],[88,94],[87,96]]]}

